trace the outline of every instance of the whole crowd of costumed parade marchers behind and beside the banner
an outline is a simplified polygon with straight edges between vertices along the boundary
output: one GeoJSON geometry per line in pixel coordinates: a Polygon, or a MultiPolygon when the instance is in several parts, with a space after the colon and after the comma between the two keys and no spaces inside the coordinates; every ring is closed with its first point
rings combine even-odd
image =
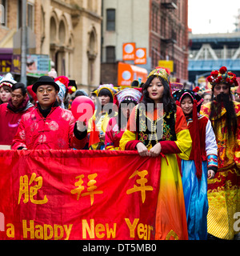
{"type": "Polygon", "coordinates": [[[234,226],[240,212],[240,103],[231,93],[236,75],[225,66],[211,72],[211,90],[202,96],[196,89],[172,90],[162,67],[144,84],[135,81],[125,89],[104,84],[90,96],[54,70],[27,88],[10,74],[1,79],[0,145],[137,150],[141,157],[161,157],[155,238],[161,238],[167,216],[177,213],[178,238],[240,239],[234,226]],[[75,120],[70,110],[79,96],[95,104],[87,123],[75,120]],[[170,190],[174,207],[168,206],[170,190]]]}

